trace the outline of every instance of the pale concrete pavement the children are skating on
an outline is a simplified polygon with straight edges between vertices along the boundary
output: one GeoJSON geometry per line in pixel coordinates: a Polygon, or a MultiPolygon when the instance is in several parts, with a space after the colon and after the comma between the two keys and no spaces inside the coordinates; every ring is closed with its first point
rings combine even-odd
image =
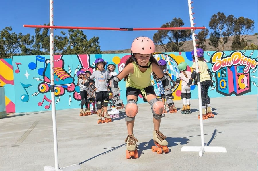
{"type": "MultiPolygon", "coordinates": [[[[191,99],[191,114],[161,119],[169,153],[152,152],[152,113],[148,103],[138,104],[134,125],[138,158],[126,159],[124,109],[111,123],[97,124],[97,115],[79,116],[79,108],[56,110],[59,168],[79,164],[79,171],[209,170],[257,171],[257,95],[211,98],[214,118],[203,120],[206,146],[227,152],[181,151],[201,146],[198,99],[191,99]]],[[[38,171],[55,167],[52,111],[7,114],[0,119],[0,170],[38,171]]]]}

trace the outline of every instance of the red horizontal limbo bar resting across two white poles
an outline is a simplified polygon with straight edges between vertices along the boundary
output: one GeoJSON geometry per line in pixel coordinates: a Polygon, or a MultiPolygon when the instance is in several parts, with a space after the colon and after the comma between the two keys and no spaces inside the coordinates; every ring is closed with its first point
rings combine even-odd
{"type": "Polygon", "coordinates": [[[49,26],[49,25],[26,25],[23,27],[45,28],[45,29],[82,29],[82,30],[118,30],[118,31],[134,31],[134,30],[196,30],[205,29],[205,27],[162,27],[162,28],[110,28],[110,27],[71,27],[71,26],[49,26]]]}

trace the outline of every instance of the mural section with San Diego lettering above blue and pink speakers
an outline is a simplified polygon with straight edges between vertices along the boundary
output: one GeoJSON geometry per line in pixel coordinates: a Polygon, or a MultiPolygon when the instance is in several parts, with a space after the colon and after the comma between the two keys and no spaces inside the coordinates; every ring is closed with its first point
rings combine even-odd
{"type": "Polygon", "coordinates": [[[210,58],[217,92],[239,96],[251,92],[252,85],[257,91],[257,51],[226,52],[217,51],[210,58]]]}

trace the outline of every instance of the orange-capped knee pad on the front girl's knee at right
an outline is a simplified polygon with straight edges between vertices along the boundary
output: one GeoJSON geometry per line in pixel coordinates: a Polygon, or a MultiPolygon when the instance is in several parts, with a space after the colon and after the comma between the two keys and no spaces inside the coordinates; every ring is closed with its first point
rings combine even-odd
{"type": "Polygon", "coordinates": [[[154,98],[150,100],[149,103],[150,103],[150,108],[151,108],[153,117],[155,119],[160,119],[165,116],[165,115],[162,115],[164,110],[164,104],[159,98],[154,98]]]}

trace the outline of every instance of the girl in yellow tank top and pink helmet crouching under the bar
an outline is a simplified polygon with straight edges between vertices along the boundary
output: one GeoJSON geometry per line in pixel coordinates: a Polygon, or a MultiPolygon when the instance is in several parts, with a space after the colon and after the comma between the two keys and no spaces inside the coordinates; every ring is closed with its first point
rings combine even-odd
{"type": "MultiPolygon", "coordinates": [[[[153,140],[157,146],[163,146],[164,151],[168,152],[168,142],[160,131],[161,118],[164,110],[164,105],[159,100],[154,92],[154,88],[151,84],[150,74],[153,72],[153,78],[157,77],[161,79],[163,87],[165,89],[166,102],[169,109],[172,109],[174,104],[171,99],[171,86],[170,79],[159,68],[156,59],[153,57],[155,52],[155,45],[153,41],[148,37],[137,37],[132,42],[131,57],[129,57],[125,63],[124,69],[115,77],[112,78],[111,90],[114,98],[112,102],[115,103],[116,108],[120,109],[124,107],[123,101],[119,97],[120,91],[118,90],[118,82],[124,79],[126,81],[126,98],[127,104],[125,107],[125,121],[127,126],[128,135],[126,137],[126,157],[129,158],[129,154],[137,154],[136,142],[138,140],[134,137],[134,120],[138,113],[137,99],[141,94],[145,101],[148,101],[153,114],[153,140]],[[131,153],[130,153],[131,152],[131,153]]],[[[154,146],[155,147],[155,146],[154,146]]],[[[155,147],[156,148],[156,147],[155,147]]],[[[137,155],[135,155],[137,158],[137,155]]]]}

